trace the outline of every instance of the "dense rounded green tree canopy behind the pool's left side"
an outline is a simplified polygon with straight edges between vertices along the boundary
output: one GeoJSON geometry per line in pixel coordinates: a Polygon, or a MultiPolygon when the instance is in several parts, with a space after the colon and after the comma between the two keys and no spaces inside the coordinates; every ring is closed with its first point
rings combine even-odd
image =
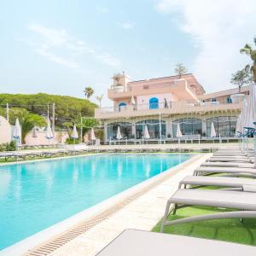
{"type": "Polygon", "coordinates": [[[47,104],[49,113],[52,114],[52,103],[55,103],[55,125],[60,126],[63,122],[79,119],[80,116],[93,116],[97,107],[86,99],[72,96],[38,94],[0,94],[0,106],[3,108],[9,103],[11,108],[26,108],[31,113],[47,115],[47,104]]]}

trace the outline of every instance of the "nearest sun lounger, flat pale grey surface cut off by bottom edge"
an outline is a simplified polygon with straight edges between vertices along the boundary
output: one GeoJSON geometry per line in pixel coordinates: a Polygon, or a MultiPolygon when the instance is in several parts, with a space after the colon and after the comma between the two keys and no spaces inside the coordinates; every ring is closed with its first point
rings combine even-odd
{"type": "Polygon", "coordinates": [[[254,256],[256,247],[189,236],[124,230],[97,256],[254,256]]]}

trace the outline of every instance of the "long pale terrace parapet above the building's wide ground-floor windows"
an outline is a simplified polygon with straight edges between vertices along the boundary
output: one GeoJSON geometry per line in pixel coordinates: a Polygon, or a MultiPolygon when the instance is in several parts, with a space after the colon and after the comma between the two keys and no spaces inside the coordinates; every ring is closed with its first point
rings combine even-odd
{"type": "Polygon", "coordinates": [[[96,108],[96,118],[111,118],[114,116],[139,116],[156,113],[194,113],[208,112],[217,110],[237,110],[241,109],[241,103],[219,102],[158,102],[149,104],[116,106],[110,108],[96,108]]]}

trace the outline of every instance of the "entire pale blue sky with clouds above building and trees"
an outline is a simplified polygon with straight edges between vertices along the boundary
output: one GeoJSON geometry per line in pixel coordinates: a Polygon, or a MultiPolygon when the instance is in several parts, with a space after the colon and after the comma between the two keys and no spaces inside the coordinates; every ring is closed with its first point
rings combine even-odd
{"type": "Polygon", "coordinates": [[[113,73],[168,76],[177,62],[207,91],[228,89],[230,73],[248,62],[239,49],[256,34],[256,4],[211,2],[4,1],[0,92],[83,97],[90,85],[109,105],[113,73]]]}

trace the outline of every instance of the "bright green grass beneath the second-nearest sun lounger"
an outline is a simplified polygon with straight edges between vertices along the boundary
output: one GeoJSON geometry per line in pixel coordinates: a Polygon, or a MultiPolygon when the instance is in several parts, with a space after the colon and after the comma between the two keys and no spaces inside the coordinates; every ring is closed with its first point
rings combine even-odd
{"type": "MultiPolygon", "coordinates": [[[[224,209],[213,207],[185,207],[177,210],[176,215],[169,215],[168,219],[184,218],[194,215],[202,215],[215,212],[226,212],[224,209]]],[[[160,232],[160,224],[152,231],[160,232]]],[[[166,226],[165,233],[183,236],[195,236],[213,240],[233,241],[237,243],[256,246],[256,219],[216,219],[197,221],[189,224],[176,224],[166,226]]]]}

